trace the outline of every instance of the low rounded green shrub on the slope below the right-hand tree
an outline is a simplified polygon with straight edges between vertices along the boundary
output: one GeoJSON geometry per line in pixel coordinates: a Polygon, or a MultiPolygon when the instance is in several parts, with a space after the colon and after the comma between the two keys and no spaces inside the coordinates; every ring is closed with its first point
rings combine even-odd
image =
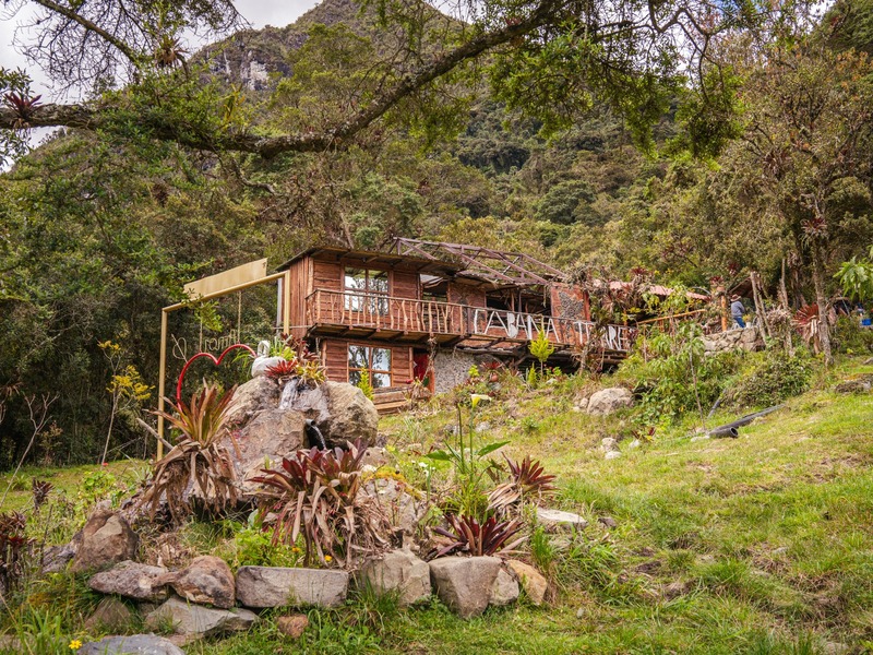
{"type": "Polygon", "coordinates": [[[814,361],[806,350],[793,357],[770,349],[753,357],[730,388],[730,400],[741,407],[768,407],[810,388],[814,361]]]}

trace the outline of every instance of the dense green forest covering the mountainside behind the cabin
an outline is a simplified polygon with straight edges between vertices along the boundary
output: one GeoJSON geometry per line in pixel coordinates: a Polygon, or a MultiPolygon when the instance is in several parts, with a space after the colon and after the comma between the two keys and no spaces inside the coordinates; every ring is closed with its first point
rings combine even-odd
{"type": "MultiPolygon", "coordinates": [[[[509,13],[495,24],[399,4],[324,0],[251,31],[223,3],[181,3],[178,29],[201,21],[223,38],[188,53],[152,34],[150,72],[128,76],[96,53],[75,71],[39,62],[87,87],[87,118],[2,71],[0,468],[35,430],[34,461],[96,460],[107,438],[116,455],[145,454],[134,419],[155,402],[160,308],[253,259],[411,236],[683,287],[755,271],[774,297],[785,281],[797,308],[824,306],[840,263],[873,243],[869,0],[821,16],[725,5],[693,82],[666,63],[682,57],[657,29],[660,59],[643,66],[642,40],[597,45],[582,19],[555,32],[569,19],[542,14],[552,3],[497,3],[509,13]],[[443,70],[450,49],[428,63],[457,44],[478,59],[443,70]],[[354,132],[332,127],[374,106],[354,132]],[[61,128],[27,152],[40,124],[61,128]]],[[[258,295],[174,315],[174,329],[218,334],[237,311],[268,330],[258,295]]]]}

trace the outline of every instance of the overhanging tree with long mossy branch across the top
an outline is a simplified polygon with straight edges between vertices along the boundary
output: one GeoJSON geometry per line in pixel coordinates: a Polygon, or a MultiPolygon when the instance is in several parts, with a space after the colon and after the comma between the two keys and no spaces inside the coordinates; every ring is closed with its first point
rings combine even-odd
{"type": "Polygon", "coordinates": [[[63,126],[265,158],[344,147],[394,109],[428,124],[427,116],[445,100],[441,91],[462,74],[489,80],[500,99],[541,115],[547,129],[567,124],[602,98],[645,139],[683,62],[695,70],[716,35],[762,20],[741,0],[464,0],[457,9],[465,23],[446,21],[423,3],[363,0],[381,27],[400,34],[398,47],[381,53],[330,122],[315,129],[307,115],[276,132],[247,121],[234,110],[232,94],[203,84],[187,66],[186,31],[218,34],[239,24],[227,0],[33,2],[41,9],[36,37],[20,46],[59,84],[87,86],[92,99],[39,104],[26,83],[1,71],[0,86],[14,94],[0,108],[7,150],[22,129],[63,126]]]}

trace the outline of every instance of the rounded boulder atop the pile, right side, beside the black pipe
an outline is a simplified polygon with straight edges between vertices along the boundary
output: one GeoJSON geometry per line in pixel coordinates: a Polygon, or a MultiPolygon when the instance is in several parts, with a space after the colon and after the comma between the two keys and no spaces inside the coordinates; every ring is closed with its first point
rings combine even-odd
{"type": "Polygon", "coordinates": [[[347,382],[330,380],[318,385],[290,380],[282,392],[279,407],[311,418],[328,445],[345,445],[361,439],[375,445],[379,413],[363,392],[347,382]]]}

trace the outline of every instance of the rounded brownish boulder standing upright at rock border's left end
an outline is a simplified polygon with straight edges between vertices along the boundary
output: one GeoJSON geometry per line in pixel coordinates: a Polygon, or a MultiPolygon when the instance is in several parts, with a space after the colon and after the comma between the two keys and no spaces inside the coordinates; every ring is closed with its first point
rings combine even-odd
{"type": "Polygon", "coordinates": [[[79,548],[73,556],[72,570],[98,571],[136,557],[140,538],[128,522],[115,512],[94,512],[82,528],[79,548]]]}

